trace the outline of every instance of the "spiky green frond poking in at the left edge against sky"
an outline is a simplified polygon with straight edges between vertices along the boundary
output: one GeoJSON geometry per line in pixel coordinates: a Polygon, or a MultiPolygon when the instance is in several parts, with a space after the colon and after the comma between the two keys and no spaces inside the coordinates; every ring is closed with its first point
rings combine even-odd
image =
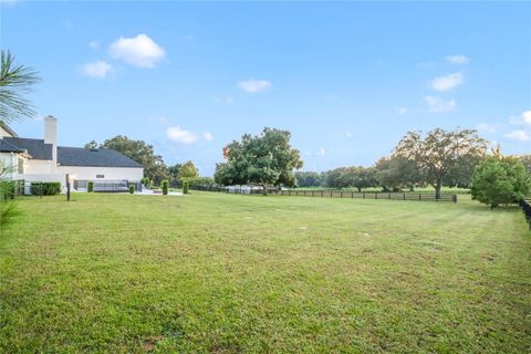
{"type": "Polygon", "coordinates": [[[24,97],[40,81],[38,73],[14,63],[9,51],[0,54],[0,121],[15,122],[35,116],[34,106],[24,97]]]}

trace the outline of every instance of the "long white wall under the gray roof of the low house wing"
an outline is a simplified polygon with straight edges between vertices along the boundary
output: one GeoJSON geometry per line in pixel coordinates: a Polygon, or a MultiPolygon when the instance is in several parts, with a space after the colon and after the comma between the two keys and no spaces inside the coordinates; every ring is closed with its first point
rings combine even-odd
{"type": "Polygon", "coordinates": [[[77,180],[122,180],[139,181],[144,177],[144,168],[138,167],[86,167],[86,166],[58,166],[56,174],[70,174],[77,180]]]}

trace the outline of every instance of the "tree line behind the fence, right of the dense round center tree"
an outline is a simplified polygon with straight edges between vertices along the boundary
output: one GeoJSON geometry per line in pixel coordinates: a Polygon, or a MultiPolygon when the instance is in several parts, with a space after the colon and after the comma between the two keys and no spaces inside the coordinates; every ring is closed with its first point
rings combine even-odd
{"type": "MultiPolygon", "coordinates": [[[[409,132],[389,156],[382,157],[371,167],[339,167],[332,170],[295,173],[299,187],[362,188],[379,187],[383,191],[414,190],[431,186],[440,196],[445,187],[472,187],[475,171],[488,156],[487,140],[476,131],[440,128],[423,137],[409,132]]],[[[531,173],[531,155],[502,157],[499,148],[492,156],[520,163],[531,173]]]]}

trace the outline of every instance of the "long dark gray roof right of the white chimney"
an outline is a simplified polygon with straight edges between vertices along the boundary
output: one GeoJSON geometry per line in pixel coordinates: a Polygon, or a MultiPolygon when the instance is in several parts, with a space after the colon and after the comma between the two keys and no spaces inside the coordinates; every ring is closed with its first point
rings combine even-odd
{"type": "Polygon", "coordinates": [[[61,166],[142,167],[137,162],[110,148],[90,149],[59,146],[58,163],[61,166]]]}

